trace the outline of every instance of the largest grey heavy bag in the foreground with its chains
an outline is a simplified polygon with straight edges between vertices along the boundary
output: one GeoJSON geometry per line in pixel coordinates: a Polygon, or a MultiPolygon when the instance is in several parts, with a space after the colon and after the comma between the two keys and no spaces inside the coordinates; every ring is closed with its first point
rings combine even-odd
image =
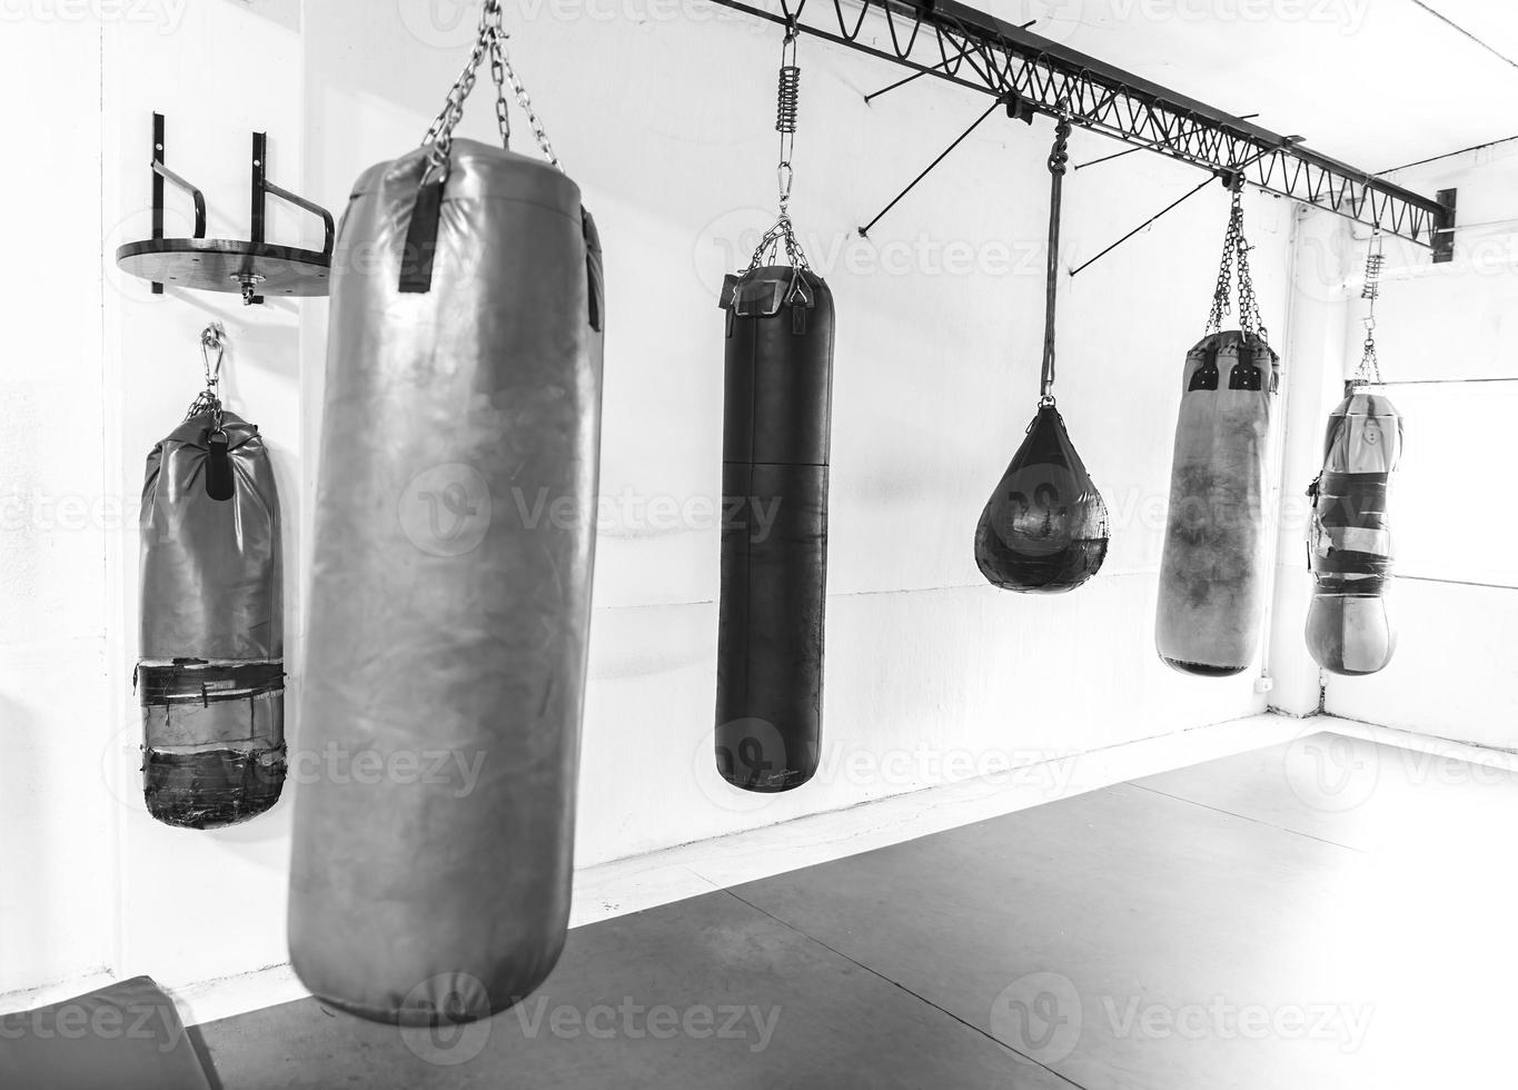
{"type": "Polygon", "coordinates": [[[290,953],[322,1000],[504,1010],[565,941],[601,416],[595,228],[486,3],[332,258],[290,953]],[[451,134],[486,53],[548,162],[451,134]]]}

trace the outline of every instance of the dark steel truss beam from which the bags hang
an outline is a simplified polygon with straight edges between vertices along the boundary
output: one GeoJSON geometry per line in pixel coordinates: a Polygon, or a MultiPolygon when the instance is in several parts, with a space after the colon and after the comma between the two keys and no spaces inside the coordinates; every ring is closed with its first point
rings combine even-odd
{"type": "Polygon", "coordinates": [[[1451,257],[1453,200],[1365,170],[958,0],[712,0],[959,87],[1302,200],[1451,257]],[[873,17],[873,18],[871,18],[873,17]]]}

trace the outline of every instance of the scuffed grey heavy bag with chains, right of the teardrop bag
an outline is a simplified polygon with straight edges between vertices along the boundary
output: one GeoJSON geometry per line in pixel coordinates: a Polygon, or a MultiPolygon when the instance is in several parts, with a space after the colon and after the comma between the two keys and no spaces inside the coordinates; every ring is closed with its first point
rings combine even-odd
{"type": "Polygon", "coordinates": [[[1280,357],[1260,322],[1240,197],[1234,188],[1208,332],[1181,372],[1155,621],[1160,657],[1202,677],[1248,669],[1264,616],[1266,455],[1280,357]],[[1234,261],[1242,328],[1225,331],[1234,261]]]}

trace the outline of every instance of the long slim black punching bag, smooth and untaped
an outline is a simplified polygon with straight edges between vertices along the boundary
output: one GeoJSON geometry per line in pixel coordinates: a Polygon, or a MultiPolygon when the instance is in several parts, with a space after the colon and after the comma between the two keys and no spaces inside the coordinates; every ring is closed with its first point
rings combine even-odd
{"type": "Polygon", "coordinates": [[[747,791],[817,773],[827,607],[833,296],[821,276],[729,276],[716,768],[747,791]]]}

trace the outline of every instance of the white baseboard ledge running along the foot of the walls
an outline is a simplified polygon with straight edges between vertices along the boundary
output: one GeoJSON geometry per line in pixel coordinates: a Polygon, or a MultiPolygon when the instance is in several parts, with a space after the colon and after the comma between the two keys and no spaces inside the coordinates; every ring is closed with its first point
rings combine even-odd
{"type": "MultiPolygon", "coordinates": [[[[1143,776],[1289,742],[1319,730],[1485,765],[1506,761],[1518,771],[1518,754],[1331,717],[1298,720],[1254,715],[589,867],[575,871],[569,926],[583,928],[598,920],[842,859],[1143,776]]],[[[47,988],[9,993],[0,996],[0,1013],[58,1002],[109,979],[108,973],[100,973],[47,988]]],[[[214,1022],[310,994],[290,966],[270,966],[219,981],[168,985],[168,990],[187,1025],[214,1022]]]]}

